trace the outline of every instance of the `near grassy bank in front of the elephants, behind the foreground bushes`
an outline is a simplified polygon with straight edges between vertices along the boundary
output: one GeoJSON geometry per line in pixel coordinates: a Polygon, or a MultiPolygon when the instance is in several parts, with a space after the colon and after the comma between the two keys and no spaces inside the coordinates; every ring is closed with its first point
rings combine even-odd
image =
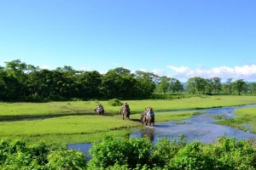
{"type": "MultiPolygon", "coordinates": [[[[198,111],[155,114],[156,122],[183,120],[199,114],[198,111]]],[[[131,121],[121,116],[61,116],[34,121],[0,122],[1,138],[29,139],[31,143],[44,140],[52,143],[83,143],[102,139],[106,134],[128,135],[142,127],[140,114],[131,115],[131,121]]]]}

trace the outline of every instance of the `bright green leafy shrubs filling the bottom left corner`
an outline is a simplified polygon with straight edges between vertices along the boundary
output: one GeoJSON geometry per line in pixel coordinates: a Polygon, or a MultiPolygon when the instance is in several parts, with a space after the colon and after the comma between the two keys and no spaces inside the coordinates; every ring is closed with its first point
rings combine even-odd
{"type": "Polygon", "coordinates": [[[76,150],[52,150],[44,143],[0,139],[0,169],[85,169],[84,155],[76,150]]]}

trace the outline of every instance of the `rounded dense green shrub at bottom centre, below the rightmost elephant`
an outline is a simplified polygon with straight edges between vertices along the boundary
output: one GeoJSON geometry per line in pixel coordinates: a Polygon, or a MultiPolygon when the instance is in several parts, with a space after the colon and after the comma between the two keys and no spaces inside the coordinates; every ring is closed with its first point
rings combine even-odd
{"type": "Polygon", "coordinates": [[[101,143],[93,144],[90,149],[91,166],[107,168],[117,165],[128,165],[135,168],[137,165],[151,164],[152,144],[148,139],[113,138],[107,136],[101,143]]]}

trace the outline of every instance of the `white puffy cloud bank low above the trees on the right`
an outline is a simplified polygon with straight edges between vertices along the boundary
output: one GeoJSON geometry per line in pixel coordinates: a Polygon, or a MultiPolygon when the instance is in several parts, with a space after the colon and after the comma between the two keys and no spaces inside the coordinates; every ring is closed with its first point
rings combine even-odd
{"type": "Polygon", "coordinates": [[[180,79],[189,79],[190,77],[221,77],[223,80],[227,78],[256,80],[256,65],[241,65],[235,67],[219,66],[211,69],[196,68],[190,69],[187,66],[167,65],[172,70],[173,77],[180,79]]]}

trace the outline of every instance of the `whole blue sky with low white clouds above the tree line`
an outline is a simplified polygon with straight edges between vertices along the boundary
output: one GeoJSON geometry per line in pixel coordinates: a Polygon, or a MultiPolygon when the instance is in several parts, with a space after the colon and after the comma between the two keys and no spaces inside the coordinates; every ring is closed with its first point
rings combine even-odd
{"type": "Polygon", "coordinates": [[[255,0],[0,0],[0,65],[256,80],[255,0]]]}

